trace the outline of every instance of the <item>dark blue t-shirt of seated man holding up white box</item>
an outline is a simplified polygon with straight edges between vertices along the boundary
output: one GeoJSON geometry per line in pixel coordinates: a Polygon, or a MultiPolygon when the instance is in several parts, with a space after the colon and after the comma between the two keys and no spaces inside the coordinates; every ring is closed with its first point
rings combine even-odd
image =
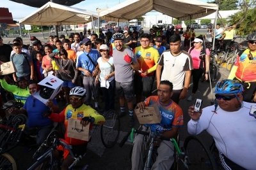
{"type": "MultiPolygon", "coordinates": [[[[55,99],[52,101],[55,105],[58,105],[55,99]]],[[[49,110],[50,108],[45,106],[44,103],[32,95],[28,97],[23,108],[28,113],[28,127],[52,125],[52,120],[48,117],[44,117],[45,111],[49,110]]]]}

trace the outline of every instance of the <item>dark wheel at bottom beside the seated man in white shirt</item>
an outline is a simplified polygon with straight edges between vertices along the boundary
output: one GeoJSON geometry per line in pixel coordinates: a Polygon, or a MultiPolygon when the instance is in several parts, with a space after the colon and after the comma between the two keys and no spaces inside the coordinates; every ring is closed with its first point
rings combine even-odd
{"type": "Polygon", "coordinates": [[[216,170],[216,162],[213,155],[198,138],[188,136],[184,141],[184,148],[188,154],[191,164],[189,170],[198,169],[214,169],[216,170]]]}

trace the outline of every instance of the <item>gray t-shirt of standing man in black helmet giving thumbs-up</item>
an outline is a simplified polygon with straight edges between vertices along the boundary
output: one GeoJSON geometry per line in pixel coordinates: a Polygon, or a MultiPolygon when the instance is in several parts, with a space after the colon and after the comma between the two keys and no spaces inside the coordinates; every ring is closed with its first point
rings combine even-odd
{"type": "Polygon", "coordinates": [[[129,50],[128,48],[124,48],[124,51],[122,52],[116,49],[113,50],[115,80],[119,83],[130,82],[133,80],[132,66],[124,60],[126,53],[132,58],[133,62],[138,62],[132,50],[129,50]]]}

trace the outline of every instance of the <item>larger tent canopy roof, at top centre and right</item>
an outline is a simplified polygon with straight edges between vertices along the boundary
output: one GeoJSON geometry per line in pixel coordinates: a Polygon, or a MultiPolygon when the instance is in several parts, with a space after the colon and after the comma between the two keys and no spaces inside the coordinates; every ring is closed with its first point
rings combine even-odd
{"type": "Polygon", "coordinates": [[[217,4],[208,4],[196,0],[128,0],[108,10],[101,11],[102,20],[125,22],[145,13],[156,10],[179,20],[189,20],[190,17],[201,18],[218,10],[217,4]]]}

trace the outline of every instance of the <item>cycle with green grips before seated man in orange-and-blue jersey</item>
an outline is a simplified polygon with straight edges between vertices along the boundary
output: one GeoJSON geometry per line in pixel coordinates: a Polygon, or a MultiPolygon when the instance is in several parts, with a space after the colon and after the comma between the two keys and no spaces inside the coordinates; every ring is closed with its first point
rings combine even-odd
{"type": "MultiPolygon", "coordinates": [[[[141,129],[142,126],[140,126],[139,129],[141,129]]],[[[144,170],[148,170],[152,167],[152,165],[154,164],[154,162],[156,162],[156,158],[157,158],[157,152],[156,150],[154,150],[154,143],[156,141],[156,138],[158,139],[162,139],[162,140],[166,140],[166,141],[172,141],[173,146],[175,148],[175,152],[174,152],[174,162],[173,162],[173,166],[172,169],[179,169],[179,160],[184,164],[184,167],[186,167],[186,169],[188,169],[189,166],[189,158],[188,155],[186,154],[185,150],[183,147],[179,148],[179,145],[176,141],[175,138],[168,138],[165,136],[161,136],[159,134],[158,131],[156,132],[151,132],[150,127],[146,128],[146,131],[140,131],[140,130],[136,130],[134,128],[132,128],[132,130],[130,132],[127,133],[127,135],[124,137],[124,139],[122,139],[121,143],[120,143],[120,147],[122,147],[125,143],[125,141],[127,141],[128,137],[131,134],[131,143],[133,143],[133,134],[143,134],[143,148],[145,148],[145,150],[147,150],[147,156],[144,158],[144,170]]],[[[179,139],[179,137],[177,138],[179,139]]],[[[131,149],[131,153],[132,153],[132,149],[131,149]]],[[[130,155],[131,155],[130,153],[130,155]]]]}

